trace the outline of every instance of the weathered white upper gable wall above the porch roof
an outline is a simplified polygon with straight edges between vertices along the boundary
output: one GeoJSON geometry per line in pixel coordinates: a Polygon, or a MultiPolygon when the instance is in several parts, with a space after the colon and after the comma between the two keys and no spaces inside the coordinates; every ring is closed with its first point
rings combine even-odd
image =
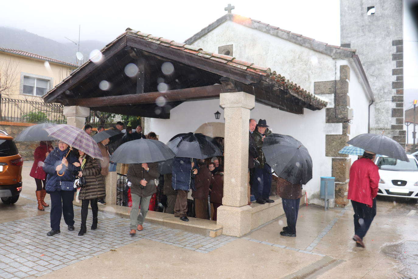
{"type": "MultiPolygon", "coordinates": [[[[226,21],[193,43],[205,51],[233,45],[237,59],[269,67],[314,93],[314,82],[335,79],[334,60],[325,54],[232,21],[226,21]]],[[[338,72],[338,71],[337,71],[338,72]]]]}

